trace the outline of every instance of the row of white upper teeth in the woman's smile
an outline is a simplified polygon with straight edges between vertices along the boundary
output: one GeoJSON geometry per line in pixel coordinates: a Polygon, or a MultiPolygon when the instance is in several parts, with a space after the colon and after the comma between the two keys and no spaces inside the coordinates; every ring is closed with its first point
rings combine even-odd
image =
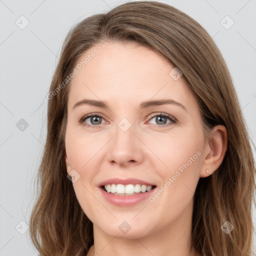
{"type": "Polygon", "coordinates": [[[140,185],[140,184],[107,184],[105,189],[108,193],[117,193],[117,194],[133,194],[139,192],[150,191],[152,186],[140,185]]]}

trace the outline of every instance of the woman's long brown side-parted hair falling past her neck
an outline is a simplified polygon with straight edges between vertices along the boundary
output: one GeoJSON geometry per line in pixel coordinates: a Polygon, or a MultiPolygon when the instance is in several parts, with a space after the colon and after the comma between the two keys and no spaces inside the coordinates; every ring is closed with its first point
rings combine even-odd
{"type": "Polygon", "coordinates": [[[87,49],[104,41],[136,42],[162,55],[182,71],[194,93],[205,134],[209,136],[214,125],[226,127],[224,159],[196,187],[191,248],[212,256],[250,255],[255,165],[230,74],[201,25],[155,1],[127,2],[85,18],[65,38],[49,89],[46,144],[30,218],[30,236],[39,255],[85,255],[93,244],[92,223],[66,176],[64,137],[70,82],[63,81],[87,49]],[[221,230],[226,220],[234,226],[228,234],[221,230]]]}

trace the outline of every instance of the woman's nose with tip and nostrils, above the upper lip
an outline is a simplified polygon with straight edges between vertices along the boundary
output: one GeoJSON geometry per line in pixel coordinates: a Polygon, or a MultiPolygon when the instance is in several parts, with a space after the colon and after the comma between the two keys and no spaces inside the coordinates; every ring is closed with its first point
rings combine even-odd
{"type": "Polygon", "coordinates": [[[143,161],[143,143],[134,134],[133,126],[126,131],[117,127],[116,134],[108,144],[107,160],[112,165],[130,166],[143,161]]]}

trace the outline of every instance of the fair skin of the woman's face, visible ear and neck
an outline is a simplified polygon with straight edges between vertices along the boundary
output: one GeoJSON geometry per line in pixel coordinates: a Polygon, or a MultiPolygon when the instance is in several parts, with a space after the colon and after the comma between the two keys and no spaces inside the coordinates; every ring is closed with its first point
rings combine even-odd
{"type": "Polygon", "coordinates": [[[72,79],[65,134],[67,173],[79,173],[73,188],[93,223],[94,245],[87,255],[200,255],[188,253],[193,196],[199,178],[210,175],[205,169],[212,173],[223,160],[225,127],[215,126],[208,141],[192,92],[182,76],[174,80],[169,75],[173,66],[151,49],[105,42],[88,49],[78,62],[95,47],[99,52],[72,79]],[[108,107],[73,108],[85,98],[105,101],[108,107]],[[177,104],[139,108],[142,101],[160,99],[175,100],[185,109],[177,104]],[[79,123],[90,113],[102,115],[99,124],[89,117],[79,123]],[[160,113],[176,122],[168,117],[159,122],[160,113]],[[131,124],[126,131],[118,126],[122,118],[131,124]],[[138,178],[158,190],[194,155],[196,159],[154,201],[114,205],[98,187],[109,178],[138,178]],[[126,233],[118,228],[123,221],[130,226],[126,233]]]}

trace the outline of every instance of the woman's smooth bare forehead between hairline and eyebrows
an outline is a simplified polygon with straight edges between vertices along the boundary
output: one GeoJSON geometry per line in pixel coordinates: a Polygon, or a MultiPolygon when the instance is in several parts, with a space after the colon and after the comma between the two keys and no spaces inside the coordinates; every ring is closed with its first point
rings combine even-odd
{"type": "Polygon", "coordinates": [[[152,97],[193,100],[182,76],[178,80],[170,76],[173,65],[135,43],[94,45],[78,59],[75,68],[68,99],[72,104],[82,96],[123,104],[152,97]]]}

